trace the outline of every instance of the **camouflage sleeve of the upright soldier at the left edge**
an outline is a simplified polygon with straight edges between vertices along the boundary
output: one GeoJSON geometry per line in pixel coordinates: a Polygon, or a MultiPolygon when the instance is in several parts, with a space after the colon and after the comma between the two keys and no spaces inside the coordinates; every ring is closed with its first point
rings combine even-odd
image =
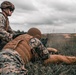
{"type": "Polygon", "coordinates": [[[5,41],[10,41],[9,37],[12,36],[11,33],[5,30],[6,19],[0,14],[0,38],[5,41]]]}

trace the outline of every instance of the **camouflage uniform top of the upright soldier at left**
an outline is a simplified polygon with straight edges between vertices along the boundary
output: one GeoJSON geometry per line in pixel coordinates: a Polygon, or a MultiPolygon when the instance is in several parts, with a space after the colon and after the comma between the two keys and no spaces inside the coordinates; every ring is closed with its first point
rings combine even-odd
{"type": "MultiPolygon", "coordinates": [[[[7,35],[12,35],[14,32],[9,26],[9,20],[2,13],[0,13],[0,34],[3,34],[3,37],[6,38],[7,35]]],[[[8,38],[8,37],[7,37],[8,38]]]]}

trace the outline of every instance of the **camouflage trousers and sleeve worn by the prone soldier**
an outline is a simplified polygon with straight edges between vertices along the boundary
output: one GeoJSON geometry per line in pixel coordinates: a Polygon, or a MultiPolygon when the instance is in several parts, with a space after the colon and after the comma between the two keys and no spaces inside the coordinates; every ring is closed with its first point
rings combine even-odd
{"type": "MultiPolygon", "coordinates": [[[[49,56],[48,50],[43,46],[40,40],[32,38],[29,41],[32,51],[35,49],[36,53],[43,60],[49,56]]],[[[17,51],[7,49],[0,53],[0,74],[1,75],[26,75],[27,70],[24,68],[23,60],[17,51]]]]}

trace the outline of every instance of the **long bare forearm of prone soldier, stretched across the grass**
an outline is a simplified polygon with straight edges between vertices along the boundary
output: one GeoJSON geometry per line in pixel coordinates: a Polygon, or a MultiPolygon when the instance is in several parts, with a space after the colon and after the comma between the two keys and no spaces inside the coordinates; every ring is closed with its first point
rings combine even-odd
{"type": "Polygon", "coordinates": [[[65,64],[76,64],[75,56],[65,56],[65,55],[50,55],[48,59],[44,61],[45,64],[48,63],[65,63],[65,64]]]}

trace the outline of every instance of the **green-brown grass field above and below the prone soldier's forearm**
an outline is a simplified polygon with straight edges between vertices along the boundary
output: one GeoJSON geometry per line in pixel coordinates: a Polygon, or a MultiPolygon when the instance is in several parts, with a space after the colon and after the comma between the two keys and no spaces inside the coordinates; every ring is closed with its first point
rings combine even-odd
{"type": "MultiPolygon", "coordinates": [[[[70,38],[66,38],[63,34],[48,34],[47,44],[46,39],[43,39],[45,41],[43,43],[47,47],[58,49],[59,54],[76,56],[76,36],[74,35],[70,34],[70,38]]],[[[66,65],[64,63],[44,65],[40,61],[29,62],[26,68],[28,69],[28,75],[76,75],[76,65],[66,65]]]]}

